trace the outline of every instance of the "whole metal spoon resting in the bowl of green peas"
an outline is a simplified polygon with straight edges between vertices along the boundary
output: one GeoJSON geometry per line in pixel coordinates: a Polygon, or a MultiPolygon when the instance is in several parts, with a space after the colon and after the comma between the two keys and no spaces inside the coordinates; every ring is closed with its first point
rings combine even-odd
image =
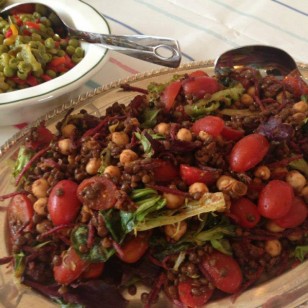
{"type": "Polygon", "coordinates": [[[34,11],[48,17],[52,22],[55,33],[58,33],[62,38],[75,37],[89,43],[97,43],[105,48],[158,65],[168,67],[180,65],[181,52],[176,40],[157,36],[107,35],[76,30],[69,27],[53,9],[42,3],[13,4],[2,9],[0,16],[6,18],[16,13],[31,13],[34,11]]]}

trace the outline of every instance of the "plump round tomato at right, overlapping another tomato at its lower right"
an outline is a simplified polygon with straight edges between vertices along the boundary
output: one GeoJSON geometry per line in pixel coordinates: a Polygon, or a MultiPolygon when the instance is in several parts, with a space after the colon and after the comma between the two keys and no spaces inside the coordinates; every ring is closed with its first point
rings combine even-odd
{"type": "Polygon", "coordinates": [[[293,199],[294,192],[289,183],[281,180],[272,180],[260,193],[258,211],[266,218],[282,218],[291,209],[293,199]]]}

